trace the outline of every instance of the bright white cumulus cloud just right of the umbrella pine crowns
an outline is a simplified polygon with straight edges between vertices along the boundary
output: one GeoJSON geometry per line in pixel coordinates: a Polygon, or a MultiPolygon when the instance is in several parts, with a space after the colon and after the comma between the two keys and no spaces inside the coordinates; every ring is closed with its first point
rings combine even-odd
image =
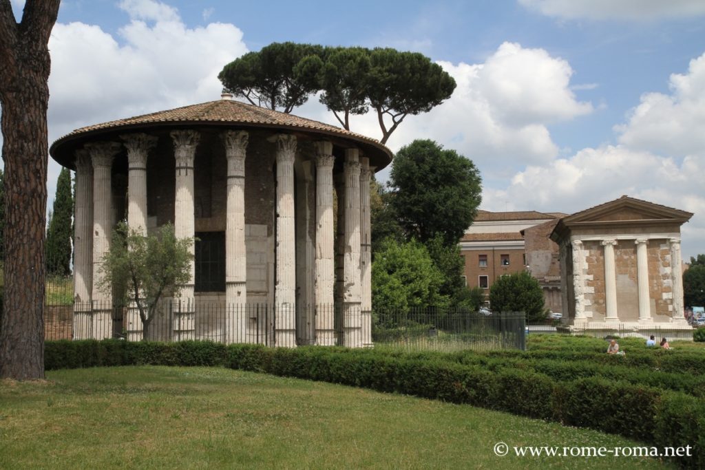
{"type": "MultiPolygon", "coordinates": [[[[558,155],[549,123],[593,111],[571,91],[568,62],[544,49],[506,42],[484,63],[439,64],[458,87],[429,113],[407,116],[387,142],[394,151],[431,138],[472,159],[485,174],[509,176],[527,163],[546,163],[558,155]]],[[[336,124],[317,99],[295,112],[336,124]]],[[[379,138],[375,113],[353,116],[350,122],[353,131],[379,138]]]]}

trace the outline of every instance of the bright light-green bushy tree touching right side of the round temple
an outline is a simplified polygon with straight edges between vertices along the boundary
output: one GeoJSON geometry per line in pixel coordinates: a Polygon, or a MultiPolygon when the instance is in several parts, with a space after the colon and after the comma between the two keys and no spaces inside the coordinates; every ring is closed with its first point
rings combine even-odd
{"type": "Polygon", "coordinates": [[[372,262],[372,310],[407,313],[410,309],[447,307],[439,294],[443,274],[421,243],[386,240],[372,262]]]}

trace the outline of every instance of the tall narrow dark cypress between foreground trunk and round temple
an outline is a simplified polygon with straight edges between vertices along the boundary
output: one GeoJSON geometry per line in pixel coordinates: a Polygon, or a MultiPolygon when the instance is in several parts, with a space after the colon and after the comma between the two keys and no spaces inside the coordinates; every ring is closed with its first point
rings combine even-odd
{"type": "Polygon", "coordinates": [[[73,195],[71,171],[61,168],[56,182],[54,210],[47,227],[47,274],[71,274],[71,234],[73,225],[73,195]]]}

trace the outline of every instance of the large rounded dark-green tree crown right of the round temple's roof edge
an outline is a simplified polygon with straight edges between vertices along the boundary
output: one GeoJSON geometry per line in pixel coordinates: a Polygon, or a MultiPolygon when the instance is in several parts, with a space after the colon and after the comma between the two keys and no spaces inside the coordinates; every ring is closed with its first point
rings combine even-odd
{"type": "Polygon", "coordinates": [[[472,161],[432,140],[400,149],[390,176],[391,205],[408,238],[440,235],[457,245],[482,201],[482,179],[472,161]]]}

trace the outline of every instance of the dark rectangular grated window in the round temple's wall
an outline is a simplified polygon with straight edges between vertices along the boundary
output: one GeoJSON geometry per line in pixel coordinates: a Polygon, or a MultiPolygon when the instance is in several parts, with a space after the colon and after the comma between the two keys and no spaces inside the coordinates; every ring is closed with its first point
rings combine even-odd
{"type": "Polygon", "coordinates": [[[196,292],[225,292],[225,232],[198,232],[195,245],[196,292]]]}

